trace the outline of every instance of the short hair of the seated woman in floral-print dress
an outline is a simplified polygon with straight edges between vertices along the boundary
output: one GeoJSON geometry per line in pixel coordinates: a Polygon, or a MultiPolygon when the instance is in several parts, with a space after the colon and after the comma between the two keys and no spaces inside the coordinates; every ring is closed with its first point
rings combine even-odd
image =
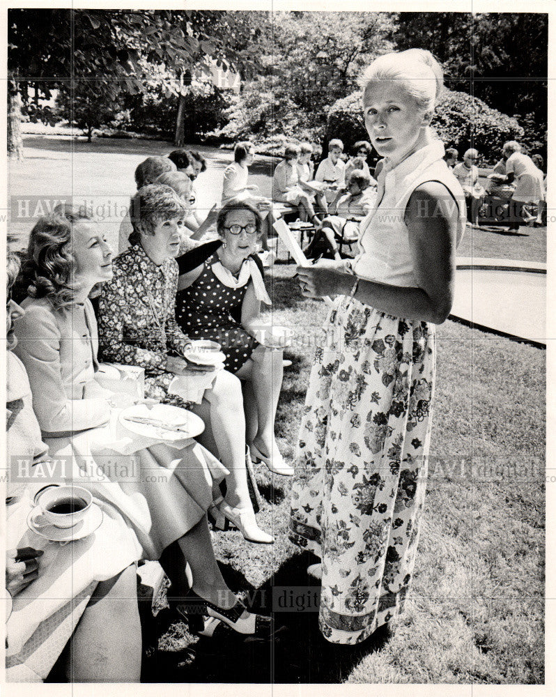
{"type": "Polygon", "coordinates": [[[141,235],[154,235],[155,228],[166,220],[181,220],[187,215],[187,207],[178,194],[164,184],[144,186],[132,197],[130,215],[133,232],[130,244],[137,245],[141,235]]]}

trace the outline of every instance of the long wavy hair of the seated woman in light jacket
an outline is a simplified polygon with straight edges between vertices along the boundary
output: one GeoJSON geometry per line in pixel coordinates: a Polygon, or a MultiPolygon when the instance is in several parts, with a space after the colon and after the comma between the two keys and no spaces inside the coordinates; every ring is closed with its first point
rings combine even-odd
{"type": "Polygon", "coordinates": [[[18,285],[26,286],[31,298],[48,298],[55,309],[65,309],[74,302],[72,226],[81,220],[93,220],[84,206],[56,206],[52,213],[39,218],[29,235],[18,285]]]}

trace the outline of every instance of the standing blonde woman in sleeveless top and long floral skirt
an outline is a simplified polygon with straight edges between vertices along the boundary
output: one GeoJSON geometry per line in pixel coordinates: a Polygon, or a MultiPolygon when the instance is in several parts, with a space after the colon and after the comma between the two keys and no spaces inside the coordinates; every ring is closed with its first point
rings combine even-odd
{"type": "Polygon", "coordinates": [[[362,78],[382,155],[376,204],[352,266],[298,268],[307,297],[335,296],[300,427],[291,538],[322,563],[319,625],[354,644],[410,587],[426,489],[435,324],[447,318],[465,199],[428,128],[442,70],[421,49],[380,56],[362,78]],[[455,203],[455,205],[454,205],[455,203]],[[400,212],[393,216],[392,210],[400,212]]]}

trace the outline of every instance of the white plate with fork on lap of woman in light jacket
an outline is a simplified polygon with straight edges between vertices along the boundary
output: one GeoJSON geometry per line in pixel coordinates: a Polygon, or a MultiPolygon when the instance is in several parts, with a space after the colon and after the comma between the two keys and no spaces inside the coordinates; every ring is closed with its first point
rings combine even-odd
{"type": "Polygon", "coordinates": [[[171,404],[155,404],[151,409],[145,404],[135,404],[123,409],[118,416],[118,421],[125,429],[138,436],[157,438],[162,441],[183,441],[185,438],[199,436],[205,430],[205,424],[199,416],[192,411],[171,404]],[[150,426],[150,424],[138,424],[134,421],[128,421],[128,416],[157,419],[169,426],[183,427],[183,430],[167,431],[157,426],[150,426]]]}

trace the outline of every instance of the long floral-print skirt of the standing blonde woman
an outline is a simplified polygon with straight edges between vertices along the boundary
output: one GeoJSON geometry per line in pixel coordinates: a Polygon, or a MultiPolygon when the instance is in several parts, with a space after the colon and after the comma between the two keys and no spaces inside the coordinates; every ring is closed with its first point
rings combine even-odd
{"type": "Polygon", "coordinates": [[[433,325],[340,296],[311,370],[290,537],[321,557],[319,627],[355,644],[403,608],[419,539],[433,325]]]}

